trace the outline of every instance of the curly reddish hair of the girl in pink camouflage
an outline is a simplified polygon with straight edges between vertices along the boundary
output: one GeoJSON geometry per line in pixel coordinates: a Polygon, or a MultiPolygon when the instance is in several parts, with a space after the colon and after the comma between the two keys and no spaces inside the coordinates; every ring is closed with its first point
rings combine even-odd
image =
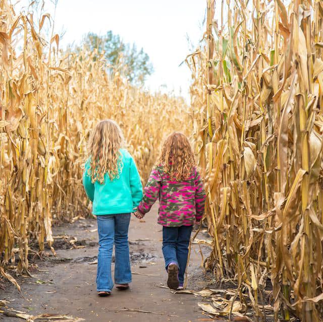
{"type": "Polygon", "coordinates": [[[196,166],[194,153],[186,136],[179,132],[171,134],[164,142],[159,164],[172,180],[187,179],[196,166]]]}

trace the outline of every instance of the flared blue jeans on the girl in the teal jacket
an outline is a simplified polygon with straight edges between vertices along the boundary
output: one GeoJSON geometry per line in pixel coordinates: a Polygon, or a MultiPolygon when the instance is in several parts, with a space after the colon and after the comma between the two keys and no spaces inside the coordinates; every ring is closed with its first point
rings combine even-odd
{"type": "Polygon", "coordinates": [[[96,216],[99,235],[99,253],[97,256],[97,291],[111,292],[113,281],[111,261],[115,244],[115,283],[131,282],[128,229],[131,214],[96,216]]]}

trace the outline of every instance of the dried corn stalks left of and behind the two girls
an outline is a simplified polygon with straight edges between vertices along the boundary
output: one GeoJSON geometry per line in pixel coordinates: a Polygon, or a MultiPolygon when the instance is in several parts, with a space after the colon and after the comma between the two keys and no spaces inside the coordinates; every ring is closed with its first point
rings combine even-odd
{"type": "Polygon", "coordinates": [[[41,35],[48,15],[35,24],[0,0],[0,17],[0,273],[15,283],[31,238],[55,252],[53,221],[88,213],[81,174],[98,120],[119,122],[145,180],[163,136],[187,131],[191,115],[182,99],[131,87],[118,67],[110,75],[103,53],[59,51],[58,35],[41,35]]]}

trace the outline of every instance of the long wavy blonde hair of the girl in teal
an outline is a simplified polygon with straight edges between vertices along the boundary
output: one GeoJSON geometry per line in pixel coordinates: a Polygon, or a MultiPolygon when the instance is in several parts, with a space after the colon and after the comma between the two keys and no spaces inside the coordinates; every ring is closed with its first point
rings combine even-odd
{"type": "Polygon", "coordinates": [[[124,143],[120,126],[112,119],[100,121],[94,127],[88,143],[92,182],[104,182],[106,173],[110,180],[119,178],[123,168],[120,149],[124,143]]]}

